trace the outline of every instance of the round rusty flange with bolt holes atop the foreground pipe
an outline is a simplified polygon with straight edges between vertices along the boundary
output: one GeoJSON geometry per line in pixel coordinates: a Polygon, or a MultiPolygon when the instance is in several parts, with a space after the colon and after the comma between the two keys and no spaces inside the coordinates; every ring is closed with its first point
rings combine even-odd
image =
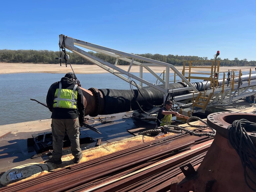
{"type": "MultiPolygon", "coordinates": [[[[254,113],[241,113],[241,112],[217,112],[207,116],[207,124],[215,129],[217,133],[223,137],[228,138],[227,127],[235,120],[246,119],[250,122],[256,123],[256,114],[254,113]]],[[[247,132],[252,140],[255,140],[255,133],[247,132]]]]}

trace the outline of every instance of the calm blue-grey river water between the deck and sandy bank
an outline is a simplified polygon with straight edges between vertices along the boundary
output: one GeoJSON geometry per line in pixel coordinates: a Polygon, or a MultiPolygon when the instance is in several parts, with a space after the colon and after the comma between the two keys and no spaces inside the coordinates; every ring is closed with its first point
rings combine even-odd
{"type": "MultiPolygon", "coordinates": [[[[133,74],[139,75],[139,73],[133,74]]],[[[46,103],[49,87],[64,75],[49,73],[1,74],[0,125],[51,118],[48,108],[30,99],[46,103]]],[[[77,74],[77,78],[85,89],[94,87],[130,90],[129,83],[110,73],[77,74]]],[[[152,82],[153,79],[155,81],[155,78],[150,73],[143,74],[143,78],[151,83],[156,83],[152,82]]]]}

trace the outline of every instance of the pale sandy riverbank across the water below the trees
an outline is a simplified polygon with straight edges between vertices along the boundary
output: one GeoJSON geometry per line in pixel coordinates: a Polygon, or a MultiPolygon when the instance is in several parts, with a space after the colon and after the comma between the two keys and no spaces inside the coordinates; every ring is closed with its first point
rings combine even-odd
{"type": "MultiPolygon", "coordinates": [[[[118,66],[119,68],[127,71],[129,66],[118,66]]],[[[97,65],[72,65],[72,68],[76,74],[100,74],[108,73],[106,70],[98,67],[97,65]]],[[[165,70],[165,67],[150,67],[154,72],[161,73],[165,70]]],[[[176,67],[180,72],[182,66],[176,67]]],[[[220,71],[228,71],[228,69],[239,69],[241,67],[220,67],[220,71]]],[[[210,71],[205,67],[195,68],[192,72],[210,71]]],[[[10,73],[68,73],[72,72],[70,65],[67,67],[65,64],[60,66],[59,64],[34,64],[34,63],[0,63],[0,74],[10,73]]],[[[139,66],[132,66],[130,72],[139,72],[139,66]]],[[[143,72],[147,70],[143,69],[143,72]]]]}

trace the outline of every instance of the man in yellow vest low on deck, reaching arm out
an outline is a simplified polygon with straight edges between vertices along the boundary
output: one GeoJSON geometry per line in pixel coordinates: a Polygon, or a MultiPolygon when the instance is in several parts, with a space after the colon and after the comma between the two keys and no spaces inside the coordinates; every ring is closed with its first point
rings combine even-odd
{"type": "Polygon", "coordinates": [[[174,112],[171,110],[173,105],[173,102],[171,100],[167,100],[164,107],[162,107],[158,111],[157,115],[157,127],[164,126],[164,125],[170,125],[172,122],[172,114],[176,115],[178,117],[183,117],[185,119],[188,119],[188,116],[184,116],[179,114],[178,112],[174,112]]]}

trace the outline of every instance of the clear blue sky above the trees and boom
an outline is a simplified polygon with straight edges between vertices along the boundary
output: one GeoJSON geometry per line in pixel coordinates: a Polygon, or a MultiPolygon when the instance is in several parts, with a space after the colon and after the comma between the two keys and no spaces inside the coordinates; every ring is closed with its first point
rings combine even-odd
{"type": "Polygon", "coordinates": [[[1,2],[0,50],[59,51],[59,34],[127,53],[256,60],[255,0],[1,2]]]}

